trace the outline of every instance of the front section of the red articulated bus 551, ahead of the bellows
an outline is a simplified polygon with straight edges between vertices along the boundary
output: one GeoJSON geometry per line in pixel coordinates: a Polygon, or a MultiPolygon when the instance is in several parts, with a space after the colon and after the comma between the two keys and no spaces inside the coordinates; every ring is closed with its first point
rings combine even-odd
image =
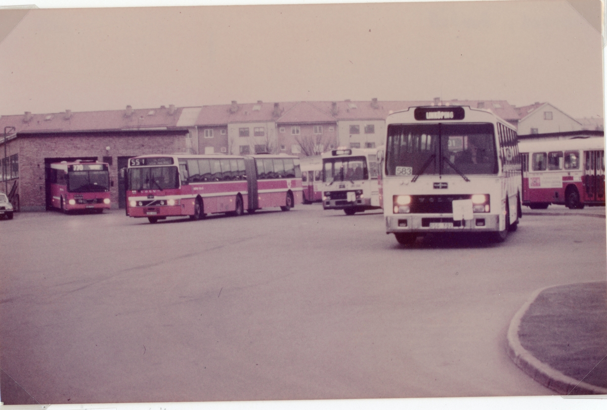
{"type": "Polygon", "coordinates": [[[128,216],[155,223],[167,217],[242,215],[248,199],[243,157],[180,154],[129,159],[128,216]]]}

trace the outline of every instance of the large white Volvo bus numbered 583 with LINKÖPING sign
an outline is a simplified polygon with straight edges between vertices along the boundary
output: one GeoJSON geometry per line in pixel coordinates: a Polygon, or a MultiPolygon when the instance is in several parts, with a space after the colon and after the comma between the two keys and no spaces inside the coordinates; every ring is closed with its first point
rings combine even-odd
{"type": "Polygon", "coordinates": [[[521,217],[517,131],[486,110],[410,107],[388,115],[382,170],[386,233],[403,245],[429,233],[490,233],[521,217]]]}

